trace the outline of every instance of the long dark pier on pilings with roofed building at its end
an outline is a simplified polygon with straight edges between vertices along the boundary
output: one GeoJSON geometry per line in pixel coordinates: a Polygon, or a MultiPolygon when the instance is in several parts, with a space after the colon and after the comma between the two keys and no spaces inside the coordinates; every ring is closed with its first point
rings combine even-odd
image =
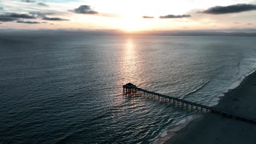
{"type": "Polygon", "coordinates": [[[221,114],[225,117],[236,118],[236,119],[240,119],[241,121],[256,124],[256,119],[254,119],[254,118],[249,118],[249,117],[245,117],[245,116],[241,116],[241,115],[236,115],[235,113],[225,112],[225,111],[216,109],[214,107],[205,106],[205,105],[201,105],[201,104],[196,104],[196,103],[193,103],[193,102],[190,102],[190,101],[187,101],[187,100],[170,97],[168,95],[163,95],[163,94],[159,94],[159,93],[155,93],[155,92],[150,92],[150,91],[147,91],[146,89],[138,88],[136,85],[133,85],[132,83],[127,83],[126,85],[124,85],[123,86],[123,92],[124,92],[124,94],[130,94],[130,95],[141,94],[143,96],[146,96],[146,97],[149,97],[149,98],[152,98],[152,99],[166,101],[168,103],[181,105],[182,107],[186,107],[187,109],[190,107],[190,109],[194,109],[194,108],[195,108],[195,110],[200,109],[202,112],[219,113],[219,114],[221,114]]]}

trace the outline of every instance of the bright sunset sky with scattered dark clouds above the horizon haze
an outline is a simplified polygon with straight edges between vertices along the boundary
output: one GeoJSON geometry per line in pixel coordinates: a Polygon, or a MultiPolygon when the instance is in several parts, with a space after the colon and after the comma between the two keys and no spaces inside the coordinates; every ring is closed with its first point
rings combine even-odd
{"type": "Polygon", "coordinates": [[[0,0],[0,29],[256,29],[256,0],[0,0]]]}

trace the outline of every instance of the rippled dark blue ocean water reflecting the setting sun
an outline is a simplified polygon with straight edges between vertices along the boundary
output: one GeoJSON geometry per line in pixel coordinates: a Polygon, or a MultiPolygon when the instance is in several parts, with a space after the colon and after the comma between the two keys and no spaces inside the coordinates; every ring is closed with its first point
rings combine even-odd
{"type": "Polygon", "coordinates": [[[256,68],[255,37],[0,35],[0,143],[154,143],[256,68]]]}

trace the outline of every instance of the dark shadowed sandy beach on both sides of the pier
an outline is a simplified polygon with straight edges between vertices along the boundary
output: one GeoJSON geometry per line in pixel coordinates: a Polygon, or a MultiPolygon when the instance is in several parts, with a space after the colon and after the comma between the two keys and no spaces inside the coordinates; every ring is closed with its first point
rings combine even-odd
{"type": "MultiPolygon", "coordinates": [[[[217,107],[227,112],[256,118],[256,71],[221,97],[217,107]]],[[[255,143],[256,125],[207,113],[175,132],[165,143],[255,143]]]]}

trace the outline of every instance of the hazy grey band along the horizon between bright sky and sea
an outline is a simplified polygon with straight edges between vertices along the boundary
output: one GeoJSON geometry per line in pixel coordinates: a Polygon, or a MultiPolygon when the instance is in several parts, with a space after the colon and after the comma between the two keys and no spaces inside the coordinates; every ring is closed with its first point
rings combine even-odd
{"type": "Polygon", "coordinates": [[[1,29],[0,34],[77,34],[77,35],[162,35],[162,36],[256,36],[256,28],[155,30],[125,32],[121,29],[1,29]]]}

